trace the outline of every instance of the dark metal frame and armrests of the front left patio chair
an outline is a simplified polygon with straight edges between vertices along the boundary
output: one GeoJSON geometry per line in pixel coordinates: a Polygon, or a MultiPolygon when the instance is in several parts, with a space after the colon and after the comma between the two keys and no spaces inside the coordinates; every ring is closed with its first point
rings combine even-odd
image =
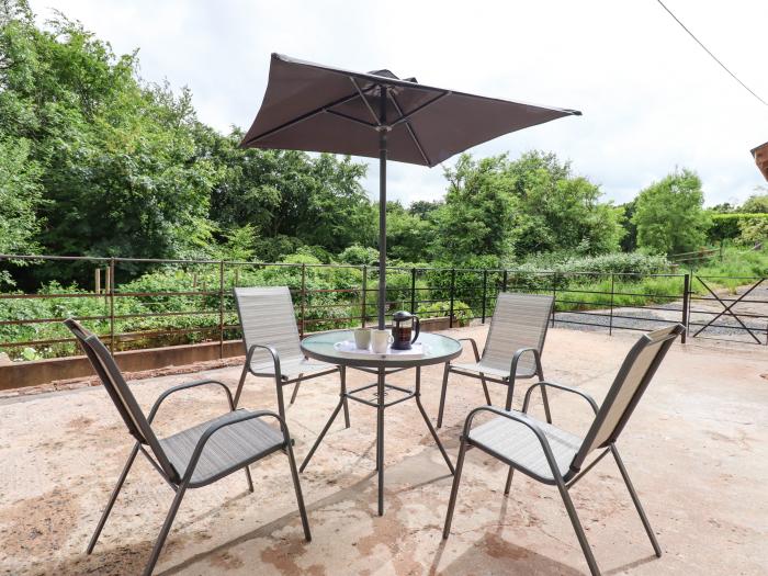
{"type": "MultiPolygon", "coordinates": [[[[101,342],[94,335],[87,336],[88,332],[86,332],[75,320],[72,319],[67,319],[65,320],[65,325],[72,331],[75,335],[78,337],[78,340],[80,340],[81,336],[84,336],[84,341],[81,341],[81,345],[83,347],[83,350],[86,351],[89,360],[91,361],[94,371],[99,375],[99,377],[102,380],[102,382],[108,379],[106,374],[103,371],[118,371],[116,364],[115,365],[105,365],[95,354],[95,352],[90,349],[91,346],[93,346],[95,342],[101,342]],[[78,335],[80,332],[80,335],[78,335]]],[[[103,347],[103,345],[101,345],[103,347]]],[[[105,350],[105,349],[104,349],[105,350]]],[[[108,352],[109,353],[109,352],[108,352]]],[[[112,358],[111,354],[109,358],[112,358]]],[[[112,360],[112,363],[114,364],[114,360],[112,360]]],[[[109,385],[106,385],[106,382],[104,382],[105,387],[108,388],[108,392],[111,392],[111,388],[109,385]]],[[[112,396],[112,394],[110,394],[112,396]]],[[[113,397],[114,400],[114,397],[113,397]]],[[[116,403],[115,403],[116,404],[116,403]]],[[[138,406],[137,406],[138,408],[138,406]]],[[[140,411],[140,408],[138,408],[140,411]]],[[[121,415],[123,416],[123,410],[118,408],[118,411],[121,411],[121,415]]],[[[133,415],[131,415],[133,418],[133,415]]],[[[168,513],[166,515],[166,519],[162,523],[162,528],[160,529],[160,533],[158,534],[155,544],[153,546],[151,554],[149,556],[149,560],[144,568],[144,575],[149,576],[154,568],[155,565],[157,564],[157,561],[160,556],[160,552],[162,551],[162,546],[166,542],[166,539],[168,538],[168,534],[170,532],[171,526],[173,524],[173,520],[176,518],[177,512],[179,511],[179,507],[181,506],[181,501],[184,497],[184,494],[189,488],[200,488],[203,486],[207,486],[210,484],[213,484],[221,478],[228,476],[229,474],[233,474],[237,472],[238,470],[245,470],[246,473],[246,479],[248,482],[248,490],[253,492],[253,481],[250,475],[250,470],[248,466],[250,464],[253,464],[255,462],[261,460],[262,458],[266,458],[274,452],[283,451],[289,460],[289,466],[291,468],[291,478],[293,482],[293,487],[296,496],[296,502],[298,505],[298,511],[300,516],[302,519],[302,528],[304,530],[304,538],[306,539],[307,542],[312,541],[312,533],[309,531],[309,523],[307,519],[307,513],[306,513],[306,508],[304,506],[304,498],[302,495],[302,487],[300,484],[298,479],[298,472],[296,470],[296,462],[293,455],[293,448],[292,448],[292,441],[291,441],[291,434],[289,432],[287,426],[285,423],[285,420],[280,417],[280,415],[270,411],[270,410],[258,410],[258,411],[246,411],[246,410],[237,410],[235,408],[235,403],[233,400],[231,392],[229,391],[229,387],[224,384],[223,382],[216,381],[216,380],[197,380],[193,382],[188,382],[184,384],[179,384],[177,386],[173,386],[171,388],[166,389],[162,392],[158,398],[155,400],[155,404],[153,405],[149,416],[146,419],[147,426],[148,426],[148,431],[150,434],[146,434],[147,437],[144,438],[144,441],[140,439],[136,439],[136,442],[131,450],[131,453],[128,454],[128,459],[123,466],[123,471],[121,472],[120,476],[117,477],[117,483],[115,484],[114,488],[112,489],[112,493],[110,495],[110,499],[106,502],[106,507],[101,513],[101,517],[99,519],[99,523],[97,524],[97,528],[93,532],[93,535],[91,537],[90,542],[88,543],[88,547],[86,549],[87,554],[91,554],[93,552],[93,549],[95,547],[97,542],[99,541],[99,537],[101,535],[101,532],[104,528],[104,524],[106,523],[106,520],[112,512],[112,508],[115,504],[115,500],[117,499],[117,496],[120,495],[121,489],[123,488],[123,484],[125,483],[125,478],[128,475],[128,472],[131,471],[135,460],[136,455],[140,452],[144,454],[144,456],[147,459],[147,461],[151,464],[151,466],[160,474],[162,479],[166,481],[168,486],[176,493],[176,496],[173,497],[173,500],[171,502],[170,509],[168,510],[168,513]],[[192,452],[192,455],[190,458],[190,461],[187,466],[187,471],[183,473],[183,475],[179,475],[177,471],[170,465],[167,456],[165,455],[165,451],[162,447],[159,444],[157,437],[155,436],[154,431],[151,430],[151,423],[155,420],[155,417],[157,416],[158,410],[160,409],[160,406],[165,403],[166,399],[168,399],[171,395],[182,392],[182,391],[188,391],[190,388],[196,388],[199,386],[204,386],[204,385],[215,385],[221,387],[226,396],[227,400],[227,406],[229,408],[229,414],[237,414],[238,411],[241,411],[242,414],[238,415],[237,417],[230,418],[226,421],[222,422],[216,422],[212,423],[206,430],[203,432],[203,434],[197,440],[197,443],[194,448],[194,451],[192,452]],[[278,420],[280,425],[280,429],[283,434],[283,443],[282,444],[276,444],[272,449],[270,449],[267,452],[261,452],[256,454],[252,459],[246,460],[241,463],[239,463],[235,467],[230,467],[227,470],[221,471],[218,474],[215,474],[214,476],[211,476],[208,478],[205,478],[204,481],[200,482],[193,482],[192,477],[194,475],[194,472],[196,470],[197,463],[200,461],[201,455],[203,454],[203,450],[205,449],[206,443],[211,439],[211,437],[214,436],[215,432],[218,430],[233,426],[236,423],[241,423],[247,420],[251,419],[257,419],[257,418],[274,418],[278,420]],[[147,449],[148,447],[148,449],[147,449]],[[151,453],[150,453],[151,451],[151,453]]],[[[132,436],[134,436],[134,432],[131,430],[132,436]]],[[[139,429],[140,434],[145,434],[144,430],[139,429]]]]}

